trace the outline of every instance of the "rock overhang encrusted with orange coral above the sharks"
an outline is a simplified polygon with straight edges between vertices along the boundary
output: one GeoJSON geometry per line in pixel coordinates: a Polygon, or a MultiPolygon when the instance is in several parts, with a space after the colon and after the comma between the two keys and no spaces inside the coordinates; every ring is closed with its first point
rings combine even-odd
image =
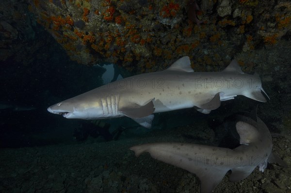
{"type": "Polygon", "coordinates": [[[246,53],[274,45],[291,30],[287,0],[269,7],[258,0],[31,0],[29,9],[71,59],[117,62],[129,71],[161,70],[185,55],[201,63],[199,70],[217,70],[237,47],[246,53]]]}

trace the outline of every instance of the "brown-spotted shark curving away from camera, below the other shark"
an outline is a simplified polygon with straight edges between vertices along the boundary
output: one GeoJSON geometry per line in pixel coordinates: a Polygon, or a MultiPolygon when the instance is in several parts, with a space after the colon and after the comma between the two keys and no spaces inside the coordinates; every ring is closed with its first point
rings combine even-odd
{"type": "MultiPolygon", "coordinates": [[[[263,172],[269,163],[287,164],[272,153],[272,137],[265,123],[240,115],[235,124],[240,146],[234,149],[186,143],[153,143],[131,147],[136,156],[149,152],[159,161],[194,173],[201,193],[210,193],[231,170],[229,180],[240,181],[258,166],[263,172]]],[[[235,191],[233,191],[235,192],[235,191]]]]}

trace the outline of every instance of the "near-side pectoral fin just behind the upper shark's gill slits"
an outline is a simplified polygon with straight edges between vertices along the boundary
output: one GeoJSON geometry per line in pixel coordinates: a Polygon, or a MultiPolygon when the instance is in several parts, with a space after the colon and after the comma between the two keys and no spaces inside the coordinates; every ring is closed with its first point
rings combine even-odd
{"type": "Polygon", "coordinates": [[[147,104],[141,106],[139,104],[131,103],[127,106],[121,107],[119,110],[122,112],[125,116],[132,118],[132,119],[139,119],[147,117],[154,113],[155,107],[153,100],[150,100],[147,104]]]}

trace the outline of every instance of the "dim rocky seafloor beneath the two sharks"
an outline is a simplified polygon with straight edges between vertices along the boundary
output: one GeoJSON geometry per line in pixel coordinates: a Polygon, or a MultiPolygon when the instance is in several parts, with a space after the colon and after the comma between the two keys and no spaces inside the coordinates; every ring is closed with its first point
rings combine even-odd
{"type": "MultiPolygon", "coordinates": [[[[203,125],[203,124],[202,124],[203,125]]],[[[206,134],[203,126],[157,130],[144,137],[104,143],[54,145],[0,150],[2,193],[194,193],[199,179],[185,170],[152,159],[135,157],[131,146],[149,142],[185,142],[182,134],[206,134]]],[[[268,164],[233,183],[228,175],[214,193],[290,193],[291,138],[273,135],[273,151],[288,168],[268,164]]],[[[186,140],[186,142],[189,142],[186,140]]]]}

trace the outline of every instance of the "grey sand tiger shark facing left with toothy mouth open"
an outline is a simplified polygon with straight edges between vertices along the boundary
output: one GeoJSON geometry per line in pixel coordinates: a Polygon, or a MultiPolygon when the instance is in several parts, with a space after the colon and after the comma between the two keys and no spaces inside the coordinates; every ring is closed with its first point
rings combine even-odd
{"type": "Polygon", "coordinates": [[[222,72],[194,72],[188,56],[168,69],[130,76],[54,104],[50,113],[67,119],[127,116],[150,128],[153,113],[195,107],[208,114],[237,95],[266,102],[258,74],[244,74],[233,60],[222,72]]]}

